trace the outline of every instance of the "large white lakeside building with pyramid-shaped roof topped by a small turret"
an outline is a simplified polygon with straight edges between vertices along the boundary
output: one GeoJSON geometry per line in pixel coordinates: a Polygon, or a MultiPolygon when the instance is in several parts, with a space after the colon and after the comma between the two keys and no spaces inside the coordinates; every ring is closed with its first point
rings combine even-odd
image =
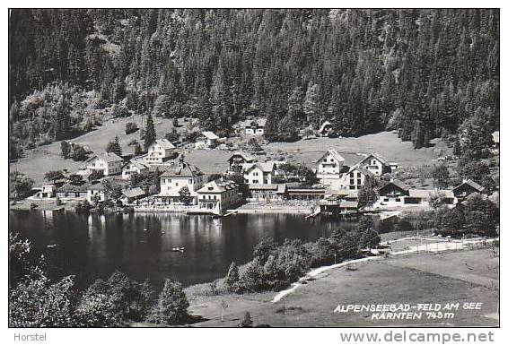
{"type": "Polygon", "coordinates": [[[180,190],[188,188],[192,204],[197,204],[197,190],[203,186],[204,174],[180,156],[180,162],[161,175],[161,192],[154,195],[160,203],[181,203],[180,190]]]}

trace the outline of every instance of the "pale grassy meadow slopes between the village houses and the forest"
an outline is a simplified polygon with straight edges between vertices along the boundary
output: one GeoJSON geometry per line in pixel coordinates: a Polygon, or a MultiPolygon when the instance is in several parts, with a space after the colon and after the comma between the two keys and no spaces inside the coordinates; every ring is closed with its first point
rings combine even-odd
{"type": "MultiPolygon", "coordinates": [[[[94,131],[83,134],[80,137],[69,140],[86,146],[88,149],[101,152],[107,143],[118,135],[122,151],[133,153],[134,146],[128,146],[128,142],[136,139],[139,142],[139,131],[134,134],[125,134],[125,124],[136,122],[141,126],[140,116],[113,119],[105,122],[94,131]]],[[[171,119],[155,118],[155,129],[159,137],[171,131],[173,128],[171,119]]],[[[182,123],[178,130],[182,132],[185,124],[182,123]]],[[[245,141],[247,138],[233,138],[233,143],[245,141]]],[[[313,161],[318,160],[320,155],[328,149],[334,148],[346,159],[346,164],[354,164],[362,159],[358,153],[377,152],[389,161],[398,162],[401,167],[419,167],[432,165],[437,157],[448,149],[440,141],[434,141],[434,148],[414,150],[411,142],[401,142],[397,134],[381,132],[378,134],[363,135],[358,138],[317,138],[301,140],[299,142],[272,142],[264,147],[266,155],[258,156],[258,160],[279,159],[291,162],[301,162],[314,168],[313,161]]],[[[230,151],[220,150],[194,150],[191,147],[180,149],[186,155],[186,159],[201,168],[206,174],[219,173],[227,168],[227,158],[230,151]]],[[[40,146],[34,150],[26,151],[26,157],[11,163],[12,170],[20,171],[35,181],[35,185],[44,182],[44,174],[52,169],[64,169],[74,171],[83,165],[83,162],[64,160],[60,157],[60,142],[52,142],[40,146]]]]}

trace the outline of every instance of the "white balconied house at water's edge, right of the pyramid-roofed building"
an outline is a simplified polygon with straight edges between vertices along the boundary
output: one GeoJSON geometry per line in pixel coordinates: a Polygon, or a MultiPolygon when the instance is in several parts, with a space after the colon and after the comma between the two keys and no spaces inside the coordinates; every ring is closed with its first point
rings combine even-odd
{"type": "Polygon", "coordinates": [[[220,214],[241,203],[239,187],[233,181],[217,179],[207,182],[197,190],[197,204],[200,210],[213,211],[220,214]]]}

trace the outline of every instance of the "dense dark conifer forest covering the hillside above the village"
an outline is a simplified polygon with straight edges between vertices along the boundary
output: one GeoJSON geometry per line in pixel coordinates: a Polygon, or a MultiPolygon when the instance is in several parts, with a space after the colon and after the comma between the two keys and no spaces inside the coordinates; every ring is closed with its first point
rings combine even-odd
{"type": "Polygon", "coordinates": [[[270,141],[325,119],[416,148],[499,126],[498,10],[13,10],[9,39],[18,145],[113,105],[221,134],[266,116],[270,141]]]}

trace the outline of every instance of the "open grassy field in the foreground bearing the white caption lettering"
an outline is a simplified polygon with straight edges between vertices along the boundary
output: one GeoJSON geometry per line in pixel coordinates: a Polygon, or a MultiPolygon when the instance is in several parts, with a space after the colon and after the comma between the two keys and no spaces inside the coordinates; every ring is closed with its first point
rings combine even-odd
{"type": "Polygon", "coordinates": [[[255,324],[304,326],[497,326],[499,259],[491,249],[410,254],[356,263],[321,273],[276,303],[275,292],[191,299],[190,312],[207,319],[193,326],[235,327],[249,311],[255,324]],[[221,303],[228,305],[221,322],[221,303]],[[481,302],[480,310],[455,312],[447,320],[371,320],[372,313],[334,313],[337,305],[481,302]]]}

